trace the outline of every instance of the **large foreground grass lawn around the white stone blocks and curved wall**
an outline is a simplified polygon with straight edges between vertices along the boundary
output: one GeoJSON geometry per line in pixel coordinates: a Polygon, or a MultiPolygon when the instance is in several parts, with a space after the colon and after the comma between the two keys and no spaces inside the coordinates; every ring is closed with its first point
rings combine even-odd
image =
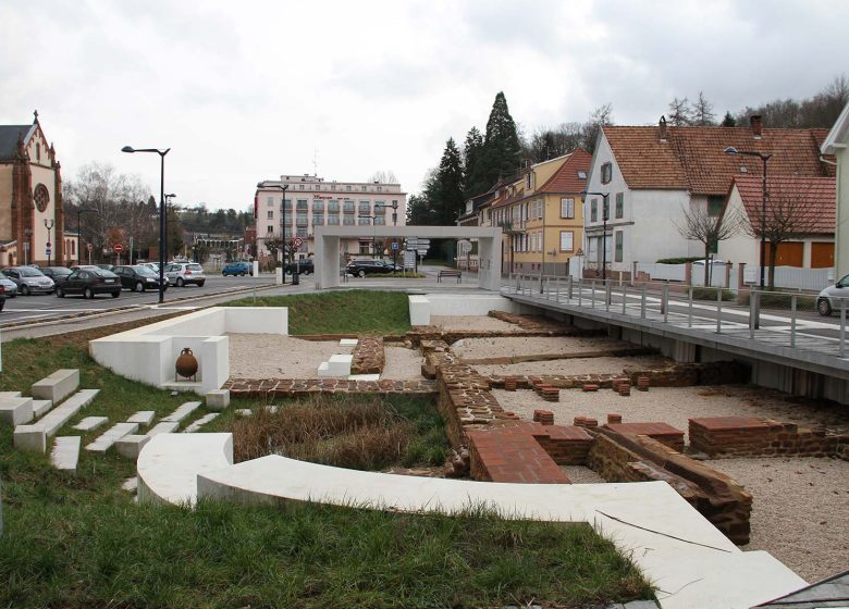
{"type": "MultiPolygon", "coordinates": [[[[307,302],[323,308],[306,298],[298,304],[307,302]]],[[[78,433],[70,425],[86,415],[106,414],[112,424],[190,399],[95,363],[87,340],[116,331],[4,344],[0,389],[28,393],[59,368],[79,368],[82,386],[101,393],[60,434],[78,433]]],[[[415,414],[420,405],[395,408],[427,435],[429,424],[415,414]]],[[[232,421],[231,412],[219,421],[232,421]]],[[[85,434],[83,444],[102,431],[85,434]]],[[[13,449],[12,428],[0,425],[0,607],[466,608],[536,599],[578,608],[652,594],[588,526],[505,521],[485,511],[447,518],[310,504],[138,506],[120,489],[134,473],[112,452],[84,450],[77,475],[62,474],[48,456],[13,449]]]]}

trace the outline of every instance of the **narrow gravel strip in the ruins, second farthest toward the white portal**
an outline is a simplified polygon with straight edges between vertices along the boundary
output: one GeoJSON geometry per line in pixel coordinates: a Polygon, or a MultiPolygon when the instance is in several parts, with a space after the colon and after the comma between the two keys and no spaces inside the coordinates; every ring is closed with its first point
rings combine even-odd
{"type": "Polygon", "coordinates": [[[601,336],[500,336],[496,338],[464,338],[452,345],[462,358],[478,359],[499,356],[538,356],[603,351],[633,347],[624,340],[601,336]]]}

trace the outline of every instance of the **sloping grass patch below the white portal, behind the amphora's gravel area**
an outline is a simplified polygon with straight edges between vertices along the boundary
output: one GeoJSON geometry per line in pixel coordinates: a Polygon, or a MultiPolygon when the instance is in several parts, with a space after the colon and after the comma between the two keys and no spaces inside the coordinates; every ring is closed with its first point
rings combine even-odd
{"type": "Polygon", "coordinates": [[[288,332],[303,334],[404,334],[410,328],[407,295],[353,289],[241,298],[227,307],[288,307],[288,332]]]}

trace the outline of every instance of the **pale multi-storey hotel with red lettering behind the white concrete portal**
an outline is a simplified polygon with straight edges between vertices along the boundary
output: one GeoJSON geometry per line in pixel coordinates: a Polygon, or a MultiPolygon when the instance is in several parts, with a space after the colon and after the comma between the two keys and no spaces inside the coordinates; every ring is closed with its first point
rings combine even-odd
{"type": "MultiPolygon", "coordinates": [[[[292,258],[308,258],[315,252],[317,226],[404,226],[407,195],[398,184],[380,182],[327,182],[313,175],[281,175],[280,181],[263,181],[254,197],[258,257],[269,253],[272,241],[299,238],[303,245],[292,258]],[[285,190],[283,190],[285,188],[285,190]]],[[[342,239],[341,254],[346,259],[381,256],[382,241],[342,239]]]]}

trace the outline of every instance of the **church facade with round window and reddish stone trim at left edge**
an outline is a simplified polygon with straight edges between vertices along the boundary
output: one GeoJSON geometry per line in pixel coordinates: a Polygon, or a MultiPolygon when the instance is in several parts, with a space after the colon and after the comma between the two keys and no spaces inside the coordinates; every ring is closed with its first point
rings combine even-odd
{"type": "Polygon", "coordinates": [[[62,174],[38,112],[30,125],[0,125],[0,265],[63,264],[62,174]]]}

